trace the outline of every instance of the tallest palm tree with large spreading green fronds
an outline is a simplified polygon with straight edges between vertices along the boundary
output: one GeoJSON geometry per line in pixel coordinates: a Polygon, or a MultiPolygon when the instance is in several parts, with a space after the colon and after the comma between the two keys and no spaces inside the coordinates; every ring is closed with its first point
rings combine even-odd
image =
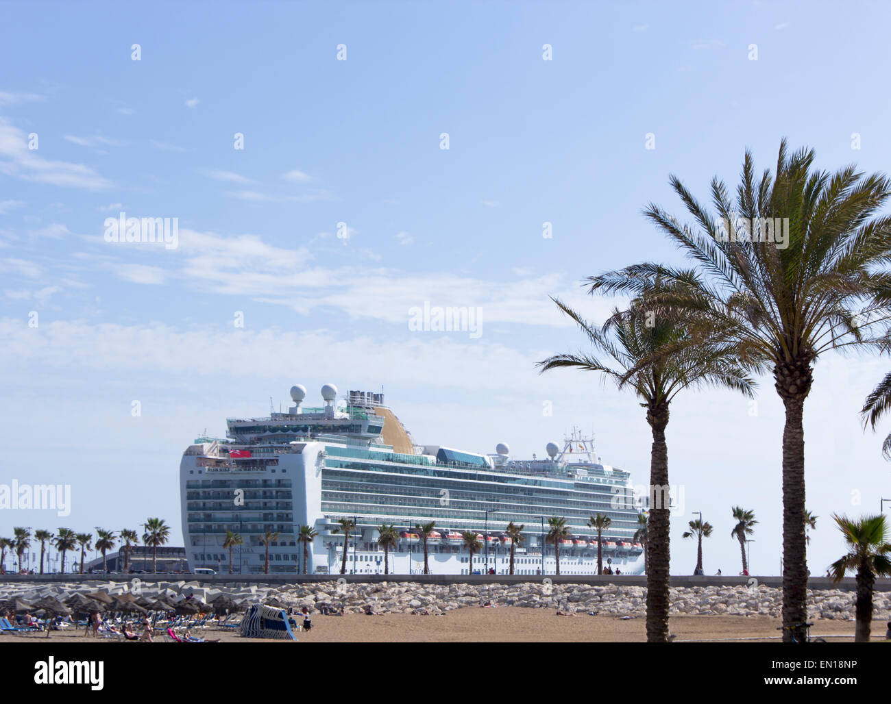
{"type": "MultiPolygon", "coordinates": [[[[813,363],[831,348],[882,346],[874,331],[886,320],[891,295],[882,270],[891,255],[891,217],[877,215],[891,182],[855,166],[835,174],[812,170],[813,150],[789,154],[781,142],[776,174],[759,178],[746,152],[734,203],[717,177],[709,212],[676,177],[674,191],[695,224],[684,225],[650,204],[644,214],[699,269],[641,263],[592,280],[594,289],[640,293],[656,281],[665,295],[650,303],[682,309],[703,339],[737,344],[740,359],[772,372],[785,407],[782,437],[783,639],[805,638],[805,399],[813,363]],[[733,232],[752,223],[752,236],[733,232]],[[785,220],[782,220],[785,218],[785,220]],[[785,224],[785,234],[767,223],[785,224]],[[723,225],[722,225],[723,223],[723,225]],[[773,232],[771,232],[771,229],[773,232]],[[733,232],[733,235],[731,236],[733,232]],[[741,240],[741,241],[740,241],[741,240]],[[792,627],[795,627],[793,634],[792,627]]],[[[665,355],[666,351],[659,352],[665,355]]],[[[877,389],[879,391],[879,389],[877,389]]],[[[869,411],[869,400],[865,410],[869,411]]]]}

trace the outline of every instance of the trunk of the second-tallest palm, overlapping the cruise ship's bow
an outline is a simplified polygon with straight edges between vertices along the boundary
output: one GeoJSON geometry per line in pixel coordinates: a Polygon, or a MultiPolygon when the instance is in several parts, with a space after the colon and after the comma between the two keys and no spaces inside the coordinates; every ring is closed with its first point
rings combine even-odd
{"type": "Polygon", "coordinates": [[[653,435],[650,450],[650,517],[647,539],[650,546],[650,569],[647,570],[647,642],[668,642],[668,562],[670,558],[668,529],[671,509],[668,493],[668,425],[667,404],[657,404],[647,412],[653,435]],[[654,501],[653,498],[656,500],[654,501]]]}

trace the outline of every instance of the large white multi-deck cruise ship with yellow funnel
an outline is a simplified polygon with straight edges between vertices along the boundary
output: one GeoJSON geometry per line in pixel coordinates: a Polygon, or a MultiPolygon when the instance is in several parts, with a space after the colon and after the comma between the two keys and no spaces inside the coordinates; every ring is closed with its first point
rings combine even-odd
{"type": "Polygon", "coordinates": [[[227,418],[226,437],[200,437],[183,454],[180,490],[184,545],[192,570],[241,574],[339,574],[347,550],[348,574],[383,574],[381,524],[399,534],[388,551],[389,574],[423,572],[416,524],[435,523],[428,538],[431,574],[509,574],[508,522],[522,525],[514,548],[514,573],[556,572],[555,547],[545,539],[548,518],[565,518],[560,574],[597,572],[591,516],[607,514],[603,565],[621,573],[643,570],[643,549],[634,541],[640,503],[628,473],[603,465],[593,441],[574,431],[563,444],[546,446],[547,457],[512,459],[499,443],[483,454],[418,445],[383,393],[350,391],[340,397],[322,387],[323,406],[304,408],[306,389],[290,389],[293,406],[268,417],[227,418]],[[339,519],[355,522],[346,537],[339,519]],[[309,526],[315,538],[298,539],[309,526]],[[470,555],[462,533],[475,531],[482,549],[470,555]],[[268,532],[277,534],[265,544],[268,532]]]}

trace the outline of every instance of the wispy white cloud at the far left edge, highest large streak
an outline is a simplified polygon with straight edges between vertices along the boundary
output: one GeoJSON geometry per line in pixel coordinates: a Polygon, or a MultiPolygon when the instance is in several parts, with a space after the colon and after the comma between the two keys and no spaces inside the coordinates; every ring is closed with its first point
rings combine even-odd
{"type": "Polygon", "coordinates": [[[112,183],[83,164],[51,161],[29,150],[28,135],[0,117],[0,173],[24,181],[87,190],[102,190],[112,183]]]}

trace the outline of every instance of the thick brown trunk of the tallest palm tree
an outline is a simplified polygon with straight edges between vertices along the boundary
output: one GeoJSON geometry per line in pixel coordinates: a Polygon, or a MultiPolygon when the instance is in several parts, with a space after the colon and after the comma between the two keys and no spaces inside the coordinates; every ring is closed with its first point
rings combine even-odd
{"type": "Polygon", "coordinates": [[[805,640],[807,543],[805,541],[805,397],[811,389],[810,360],[774,368],[776,390],[786,407],[782,433],[782,625],[783,642],[805,640]]]}

